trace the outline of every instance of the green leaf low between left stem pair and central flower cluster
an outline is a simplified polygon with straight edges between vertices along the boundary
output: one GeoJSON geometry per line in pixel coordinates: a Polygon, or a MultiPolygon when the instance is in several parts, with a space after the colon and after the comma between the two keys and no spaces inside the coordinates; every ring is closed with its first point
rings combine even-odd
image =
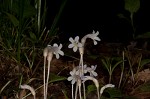
{"type": "Polygon", "coordinates": [[[66,79],[67,79],[66,77],[58,76],[58,75],[50,73],[50,81],[49,81],[49,83],[63,81],[63,80],[66,80],[66,79]]]}

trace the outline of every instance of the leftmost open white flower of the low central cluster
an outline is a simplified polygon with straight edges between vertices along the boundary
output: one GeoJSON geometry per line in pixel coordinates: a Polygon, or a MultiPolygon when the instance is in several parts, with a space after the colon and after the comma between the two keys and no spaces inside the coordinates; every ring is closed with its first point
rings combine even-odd
{"type": "Polygon", "coordinates": [[[71,84],[75,84],[75,82],[77,82],[79,76],[76,75],[76,68],[74,68],[72,71],[70,71],[70,75],[67,80],[71,81],[71,84]]]}

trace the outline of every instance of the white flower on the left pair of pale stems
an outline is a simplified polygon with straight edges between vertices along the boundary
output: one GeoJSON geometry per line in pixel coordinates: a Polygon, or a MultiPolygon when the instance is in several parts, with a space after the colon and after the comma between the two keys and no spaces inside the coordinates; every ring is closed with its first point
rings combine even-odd
{"type": "Polygon", "coordinates": [[[64,55],[64,52],[61,50],[62,48],[62,44],[60,44],[59,46],[57,44],[53,45],[53,52],[56,55],[56,58],[59,59],[59,54],[60,55],[64,55]]]}

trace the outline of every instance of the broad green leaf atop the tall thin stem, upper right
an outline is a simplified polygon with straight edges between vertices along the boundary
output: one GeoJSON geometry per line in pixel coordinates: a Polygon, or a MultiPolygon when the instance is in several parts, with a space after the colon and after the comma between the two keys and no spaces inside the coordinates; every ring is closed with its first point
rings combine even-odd
{"type": "Polygon", "coordinates": [[[140,0],[125,0],[125,9],[130,13],[137,12],[140,8],[140,0]]]}

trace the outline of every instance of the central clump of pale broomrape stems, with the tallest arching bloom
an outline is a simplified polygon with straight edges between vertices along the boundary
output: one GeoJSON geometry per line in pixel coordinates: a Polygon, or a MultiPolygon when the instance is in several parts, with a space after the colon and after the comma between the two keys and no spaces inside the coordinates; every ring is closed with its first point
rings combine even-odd
{"type": "MultiPolygon", "coordinates": [[[[92,80],[97,88],[97,95],[98,99],[100,99],[100,95],[102,94],[103,90],[105,87],[102,87],[102,90],[99,90],[99,83],[98,80],[95,78],[98,76],[98,74],[95,72],[97,65],[92,65],[91,67],[87,67],[87,65],[83,65],[83,54],[84,54],[84,46],[86,43],[86,39],[90,38],[93,40],[94,45],[97,45],[97,41],[100,41],[101,39],[98,37],[99,32],[93,32],[91,34],[85,35],[82,39],[81,42],[79,42],[79,36],[76,36],[75,39],[72,37],[69,38],[69,41],[71,44],[69,44],[68,48],[73,48],[73,51],[76,52],[79,49],[80,53],[80,61],[79,65],[74,67],[72,71],[70,71],[70,75],[68,77],[68,81],[71,81],[72,84],[72,99],[77,99],[77,92],[79,90],[79,97],[82,99],[81,96],[81,84],[83,84],[83,94],[84,94],[84,99],[86,99],[85,96],[85,84],[84,82],[87,80],[92,80]],[[90,74],[90,75],[87,75],[90,74]],[[74,95],[74,84],[76,83],[76,89],[75,89],[75,95],[74,95]],[[101,93],[100,93],[101,92],[101,93]]],[[[112,85],[112,84],[111,84],[112,85]]],[[[111,86],[108,86],[111,87],[111,86]]],[[[107,87],[106,87],[107,88],[107,87]]]]}

